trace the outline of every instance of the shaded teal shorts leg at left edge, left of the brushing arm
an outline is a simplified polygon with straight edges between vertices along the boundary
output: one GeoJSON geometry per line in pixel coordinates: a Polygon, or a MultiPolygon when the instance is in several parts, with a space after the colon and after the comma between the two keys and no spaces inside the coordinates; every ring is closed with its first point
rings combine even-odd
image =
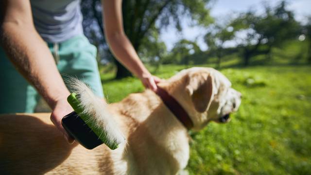
{"type": "Polygon", "coordinates": [[[0,113],[34,112],[37,93],[0,47],[0,113]]]}

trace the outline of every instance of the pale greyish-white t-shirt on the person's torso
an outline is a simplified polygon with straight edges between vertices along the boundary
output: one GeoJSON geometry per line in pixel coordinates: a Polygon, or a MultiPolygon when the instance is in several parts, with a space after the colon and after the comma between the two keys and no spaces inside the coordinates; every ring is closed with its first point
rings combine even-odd
{"type": "Polygon", "coordinates": [[[50,43],[83,34],[80,0],[30,0],[35,29],[50,43]]]}

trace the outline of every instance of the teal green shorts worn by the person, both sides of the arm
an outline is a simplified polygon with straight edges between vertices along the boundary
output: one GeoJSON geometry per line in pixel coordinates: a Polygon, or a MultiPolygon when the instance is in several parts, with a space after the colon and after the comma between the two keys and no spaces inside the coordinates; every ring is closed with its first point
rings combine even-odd
{"type": "MultiPolygon", "coordinates": [[[[77,77],[104,97],[96,61],[97,49],[84,35],[61,43],[48,43],[61,75],[77,77]]],[[[0,114],[33,113],[40,99],[35,88],[22,77],[0,47],[0,114]]]]}

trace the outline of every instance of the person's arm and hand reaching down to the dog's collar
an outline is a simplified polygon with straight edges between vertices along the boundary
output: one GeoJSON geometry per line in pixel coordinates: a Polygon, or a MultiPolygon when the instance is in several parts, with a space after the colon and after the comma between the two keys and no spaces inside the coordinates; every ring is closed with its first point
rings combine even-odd
{"type": "Polygon", "coordinates": [[[142,81],[146,88],[156,90],[160,81],[145,68],[123,29],[122,0],[103,0],[104,32],[116,58],[142,81]]]}

